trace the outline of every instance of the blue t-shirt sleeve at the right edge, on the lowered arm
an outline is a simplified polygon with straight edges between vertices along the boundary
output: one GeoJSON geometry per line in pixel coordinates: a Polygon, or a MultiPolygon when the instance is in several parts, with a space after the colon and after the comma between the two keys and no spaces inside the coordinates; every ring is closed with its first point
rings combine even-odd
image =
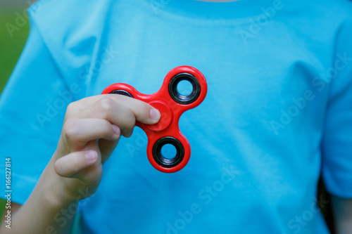
{"type": "Polygon", "coordinates": [[[352,198],[352,20],[337,31],[322,140],[322,177],[332,195],[352,198]]]}

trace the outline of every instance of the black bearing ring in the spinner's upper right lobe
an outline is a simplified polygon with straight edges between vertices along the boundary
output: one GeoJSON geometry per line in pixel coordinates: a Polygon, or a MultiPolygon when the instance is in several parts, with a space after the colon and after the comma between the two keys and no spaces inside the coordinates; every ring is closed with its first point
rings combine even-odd
{"type": "Polygon", "coordinates": [[[176,103],[180,104],[190,104],[193,103],[201,94],[201,85],[199,84],[198,79],[192,74],[183,72],[176,74],[175,77],[172,77],[169,83],[169,93],[173,100],[176,103]],[[192,91],[189,95],[184,96],[177,91],[177,84],[182,82],[182,80],[187,80],[192,85],[192,91]]]}

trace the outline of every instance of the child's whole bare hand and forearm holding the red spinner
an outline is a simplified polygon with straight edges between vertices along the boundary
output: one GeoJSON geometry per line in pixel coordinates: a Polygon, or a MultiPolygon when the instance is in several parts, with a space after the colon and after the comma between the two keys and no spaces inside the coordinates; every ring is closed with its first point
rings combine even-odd
{"type": "Polygon", "coordinates": [[[120,136],[130,137],[136,121],[156,124],[160,117],[151,105],[118,94],[70,103],[54,155],[27,201],[13,202],[13,225],[6,228],[3,221],[0,233],[71,233],[77,202],[98,188],[102,165],[120,136]],[[63,211],[70,216],[64,223],[56,221],[63,211]]]}

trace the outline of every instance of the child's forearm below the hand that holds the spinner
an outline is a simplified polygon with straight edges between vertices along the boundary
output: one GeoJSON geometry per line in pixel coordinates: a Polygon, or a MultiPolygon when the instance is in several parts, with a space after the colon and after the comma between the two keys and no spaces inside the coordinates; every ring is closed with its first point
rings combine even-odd
{"type": "Polygon", "coordinates": [[[25,204],[13,214],[11,229],[1,225],[0,233],[70,233],[79,199],[63,196],[61,178],[49,162],[25,204]]]}

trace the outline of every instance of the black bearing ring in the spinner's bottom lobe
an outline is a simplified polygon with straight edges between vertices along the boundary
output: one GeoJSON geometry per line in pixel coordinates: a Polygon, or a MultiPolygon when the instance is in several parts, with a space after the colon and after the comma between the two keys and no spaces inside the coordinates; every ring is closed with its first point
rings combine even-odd
{"type": "Polygon", "coordinates": [[[175,167],[180,164],[184,158],[184,148],[180,141],[178,141],[176,138],[165,136],[158,139],[158,141],[156,141],[156,143],[153,145],[153,158],[156,163],[161,165],[161,167],[175,167]],[[161,148],[163,148],[163,146],[166,144],[171,144],[176,148],[176,155],[175,157],[172,157],[172,159],[165,158],[161,153],[161,148]]]}

